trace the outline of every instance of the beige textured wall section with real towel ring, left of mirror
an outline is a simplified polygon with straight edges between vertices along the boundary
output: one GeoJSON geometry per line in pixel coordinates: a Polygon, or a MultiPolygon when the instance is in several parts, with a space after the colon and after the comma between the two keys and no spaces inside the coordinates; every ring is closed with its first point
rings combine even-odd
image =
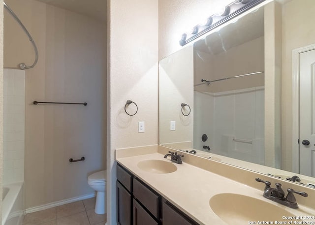
{"type": "MultiPolygon", "coordinates": [[[[108,0],[107,224],[116,224],[115,149],[158,143],[158,0],[108,0]],[[126,100],[137,103],[126,115],[126,100]],[[145,132],[138,133],[138,122],[145,132]]],[[[131,106],[130,106],[131,107],[131,106]]]]}

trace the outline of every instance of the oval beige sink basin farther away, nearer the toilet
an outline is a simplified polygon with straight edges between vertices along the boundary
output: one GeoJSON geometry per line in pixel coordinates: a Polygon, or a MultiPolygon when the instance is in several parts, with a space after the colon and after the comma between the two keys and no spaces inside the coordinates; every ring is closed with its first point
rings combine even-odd
{"type": "Polygon", "coordinates": [[[140,161],[137,166],[150,173],[172,173],[177,170],[177,167],[173,163],[162,160],[140,161]]]}

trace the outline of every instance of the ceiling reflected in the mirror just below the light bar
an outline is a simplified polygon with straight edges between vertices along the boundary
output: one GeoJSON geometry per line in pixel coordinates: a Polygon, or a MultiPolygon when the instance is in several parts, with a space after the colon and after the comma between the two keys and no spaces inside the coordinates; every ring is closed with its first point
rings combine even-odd
{"type": "Polygon", "coordinates": [[[194,48],[212,55],[220,54],[230,48],[244,44],[264,35],[264,10],[258,9],[240,18],[236,23],[211,33],[197,41],[194,48]]]}

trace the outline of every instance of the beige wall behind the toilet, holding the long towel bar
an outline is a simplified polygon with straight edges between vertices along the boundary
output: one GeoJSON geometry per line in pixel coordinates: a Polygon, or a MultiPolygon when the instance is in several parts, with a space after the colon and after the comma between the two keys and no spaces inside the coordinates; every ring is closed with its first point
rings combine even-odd
{"type": "MultiPolygon", "coordinates": [[[[106,24],[35,0],[6,2],[39,51],[38,64],[26,71],[25,206],[94,193],[87,177],[106,168],[106,24]]],[[[4,16],[4,66],[32,64],[30,41],[4,16]]]]}

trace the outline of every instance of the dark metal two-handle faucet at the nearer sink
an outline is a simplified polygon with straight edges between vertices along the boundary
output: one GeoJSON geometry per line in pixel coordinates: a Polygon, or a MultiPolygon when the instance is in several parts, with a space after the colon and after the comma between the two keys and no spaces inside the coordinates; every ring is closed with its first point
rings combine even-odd
{"type": "Polygon", "coordinates": [[[286,197],[284,197],[284,190],[282,190],[280,183],[276,183],[276,188],[271,188],[270,187],[271,183],[269,181],[263,181],[263,180],[261,180],[259,178],[256,178],[256,181],[265,183],[266,186],[265,186],[265,191],[263,193],[263,196],[265,198],[268,198],[268,199],[270,199],[272,201],[278,202],[278,203],[280,203],[282,205],[288,206],[288,207],[293,208],[293,209],[297,209],[299,207],[297,205],[297,202],[296,202],[296,199],[295,199],[295,196],[294,196],[293,193],[300,194],[303,197],[309,196],[305,192],[297,192],[297,191],[294,191],[291,188],[288,188],[286,190],[287,191],[287,195],[286,195],[286,197]]]}

